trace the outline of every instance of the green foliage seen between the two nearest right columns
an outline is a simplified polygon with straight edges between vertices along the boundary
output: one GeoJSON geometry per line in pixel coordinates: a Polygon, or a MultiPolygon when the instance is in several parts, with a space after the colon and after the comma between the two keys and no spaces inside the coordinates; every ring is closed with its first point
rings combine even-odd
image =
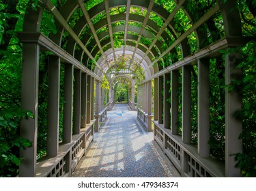
{"type": "Polygon", "coordinates": [[[225,66],[221,58],[210,59],[210,154],[225,158],[225,66]]]}

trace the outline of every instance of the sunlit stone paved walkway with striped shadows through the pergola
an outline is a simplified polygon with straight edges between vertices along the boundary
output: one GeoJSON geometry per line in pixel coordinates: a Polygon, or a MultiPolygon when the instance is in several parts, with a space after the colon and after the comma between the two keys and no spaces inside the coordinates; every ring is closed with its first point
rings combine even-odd
{"type": "Polygon", "coordinates": [[[72,177],[180,177],[137,111],[116,104],[72,177]]]}

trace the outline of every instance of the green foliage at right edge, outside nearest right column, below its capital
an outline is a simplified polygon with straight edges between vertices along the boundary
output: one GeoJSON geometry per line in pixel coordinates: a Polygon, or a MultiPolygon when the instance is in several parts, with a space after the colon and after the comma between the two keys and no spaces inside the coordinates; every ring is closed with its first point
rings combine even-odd
{"type": "Polygon", "coordinates": [[[256,176],[256,42],[249,42],[242,48],[242,80],[233,82],[234,89],[242,93],[242,110],[236,117],[242,119],[243,153],[237,153],[238,166],[244,177],[256,176]]]}

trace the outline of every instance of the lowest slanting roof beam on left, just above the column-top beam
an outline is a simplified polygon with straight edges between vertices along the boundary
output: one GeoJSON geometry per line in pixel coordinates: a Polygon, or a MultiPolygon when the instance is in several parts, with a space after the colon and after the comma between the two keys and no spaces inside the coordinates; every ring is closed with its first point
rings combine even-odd
{"type": "Polygon", "coordinates": [[[91,53],[89,53],[89,50],[87,50],[87,48],[85,47],[85,44],[83,44],[83,42],[79,39],[79,37],[76,35],[76,33],[74,33],[74,31],[72,30],[72,28],[70,27],[70,25],[68,25],[67,21],[63,18],[63,16],[60,14],[60,12],[57,10],[57,8],[55,7],[55,5],[53,5],[53,3],[51,1],[44,1],[46,7],[48,8],[48,10],[50,10],[50,12],[53,14],[53,16],[56,18],[56,20],[59,21],[59,23],[63,26],[63,28],[65,28],[68,33],[70,33],[70,36],[76,41],[77,44],[79,44],[79,46],[85,51],[85,53],[88,55],[88,57],[94,61],[96,63],[96,65],[98,66],[98,68],[102,70],[102,68],[100,67],[100,65],[98,64],[98,62],[94,59],[94,57],[91,55],[91,53]]]}

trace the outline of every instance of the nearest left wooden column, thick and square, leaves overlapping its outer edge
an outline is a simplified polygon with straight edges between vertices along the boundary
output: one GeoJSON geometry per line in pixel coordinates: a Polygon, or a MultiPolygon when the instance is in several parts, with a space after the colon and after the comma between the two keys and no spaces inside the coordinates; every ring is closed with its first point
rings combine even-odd
{"type": "Polygon", "coordinates": [[[38,76],[39,46],[35,43],[23,43],[23,68],[21,84],[21,108],[31,111],[33,118],[20,121],[20,138],[32,141],[31,147],[20,149],[20,177],[35,177],[36,153],[38,142],[38,76]]]}

